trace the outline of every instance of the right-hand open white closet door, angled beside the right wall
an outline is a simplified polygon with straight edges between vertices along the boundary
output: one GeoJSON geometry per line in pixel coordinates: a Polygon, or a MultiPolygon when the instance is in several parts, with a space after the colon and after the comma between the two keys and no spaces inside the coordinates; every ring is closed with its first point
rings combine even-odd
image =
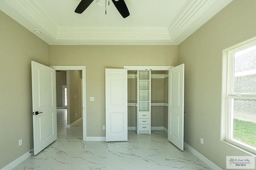
{"type": "Polygon", "coordinates": [[[184,64],[169,70],[168,140],[184,150],[184,64]]]}

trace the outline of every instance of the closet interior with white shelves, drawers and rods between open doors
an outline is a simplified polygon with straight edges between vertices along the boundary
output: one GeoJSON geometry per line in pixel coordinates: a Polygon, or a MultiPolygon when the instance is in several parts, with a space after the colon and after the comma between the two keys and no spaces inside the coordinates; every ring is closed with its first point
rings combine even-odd
{"type": "Polygon", "coordinates": [[[168,129],[168,71],[128,71],[128,130],[168,129]]]}

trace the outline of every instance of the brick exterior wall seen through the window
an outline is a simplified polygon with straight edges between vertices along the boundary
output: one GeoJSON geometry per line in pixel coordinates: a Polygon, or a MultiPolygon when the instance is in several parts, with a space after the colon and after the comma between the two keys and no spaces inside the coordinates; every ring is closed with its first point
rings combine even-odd
{"type": "MultiPolygon", "coordinates": [[[[256,74],[235,77],[234,93],[256,94],[256,74]]],[[[256,122],[256,100],[234,100],[234,118],[256,122]]]]}

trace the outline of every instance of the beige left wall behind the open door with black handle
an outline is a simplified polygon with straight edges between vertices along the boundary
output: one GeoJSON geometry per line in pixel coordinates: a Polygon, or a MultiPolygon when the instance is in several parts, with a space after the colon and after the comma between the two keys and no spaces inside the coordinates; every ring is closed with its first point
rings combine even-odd
{"type": "Polygon", "coordinates": [[[49,65],[49,45],[2,11],[0,25],[1,169],[33,149],[31,61],[49,65]]]}

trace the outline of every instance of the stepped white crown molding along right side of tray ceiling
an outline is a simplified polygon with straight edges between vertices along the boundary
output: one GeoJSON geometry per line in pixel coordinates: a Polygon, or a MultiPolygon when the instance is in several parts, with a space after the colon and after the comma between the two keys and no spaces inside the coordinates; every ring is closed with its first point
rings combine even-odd
{"type": "Polygon", "coordinates": [[[170,40],[180,44],[233,0],[188,0],[168,27],[170,40]]]}

